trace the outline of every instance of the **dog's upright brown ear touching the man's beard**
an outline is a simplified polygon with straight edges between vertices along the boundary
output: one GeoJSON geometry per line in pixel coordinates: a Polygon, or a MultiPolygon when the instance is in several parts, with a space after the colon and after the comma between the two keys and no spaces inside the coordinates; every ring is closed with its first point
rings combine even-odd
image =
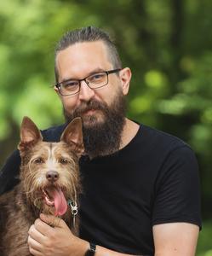
{"type": "Polygon", "coordinates": [[[66,126],[60,140],[67,143],[72,150],[75,151],[78,157],[83,154],[84,146],[82,119],[79,117],[73,119],[72,122],[66,126]]]}

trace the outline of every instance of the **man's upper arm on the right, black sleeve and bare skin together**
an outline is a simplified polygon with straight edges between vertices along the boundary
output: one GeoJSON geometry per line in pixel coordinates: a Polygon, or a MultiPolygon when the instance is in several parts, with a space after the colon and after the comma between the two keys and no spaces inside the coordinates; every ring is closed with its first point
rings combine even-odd
{"type": "Polygon", "coordinates": [[[163,165],[152,214],[156,256],[193,256],[201,229],[198,163],[188,147],[176,148],[163,165]]]}

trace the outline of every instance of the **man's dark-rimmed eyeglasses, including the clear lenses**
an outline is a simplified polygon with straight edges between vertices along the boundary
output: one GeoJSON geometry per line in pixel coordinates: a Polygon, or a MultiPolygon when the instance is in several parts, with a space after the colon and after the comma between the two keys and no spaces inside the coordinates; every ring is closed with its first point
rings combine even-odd
{"type": "Polygon", "coordinates": [[[69,79],[54,85],[58,88],[61,96],[73,96],[80,91],[82,81],[85,81],[89,88],[98,89],[108,84],[108,75],[110,73],[117,73],[120,70],[121,68],[94,73],[84,79],[69,79]]]}

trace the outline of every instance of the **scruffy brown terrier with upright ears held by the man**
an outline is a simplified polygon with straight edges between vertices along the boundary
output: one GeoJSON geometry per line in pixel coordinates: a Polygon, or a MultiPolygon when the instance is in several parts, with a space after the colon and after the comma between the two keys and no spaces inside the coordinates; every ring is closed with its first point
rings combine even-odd
{"type": "Polygon", "coordinates": [[[66,126],[59,143],[47,143],[32,120],[25,117],[18,148],[20,183],[0,197],[1,256],[32,255],[27,246],[28,230],[40,212],[63,218],[77,235],[81,119],[73,119],[66,126]]]}

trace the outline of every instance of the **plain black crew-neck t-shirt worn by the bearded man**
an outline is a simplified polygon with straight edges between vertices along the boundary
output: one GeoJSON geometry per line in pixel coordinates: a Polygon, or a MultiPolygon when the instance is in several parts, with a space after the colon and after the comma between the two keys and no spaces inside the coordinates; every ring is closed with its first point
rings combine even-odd
{"type": "MultiPolygon", "coordinates": [[[[63,129],[43,131],[43,137],[58,141],[63,129]]],[[[18,162],[16,151],[3,167],[3,191],[13,185],[18,162]]],[[[93,160],[83,156],[80,171],[80,236],[87,241],[120,253],[153,255],[153,225],[201,227],[198,164],[192,149],[176,137],[140,125],[132,141],[115,154],[93,160]]]]}

